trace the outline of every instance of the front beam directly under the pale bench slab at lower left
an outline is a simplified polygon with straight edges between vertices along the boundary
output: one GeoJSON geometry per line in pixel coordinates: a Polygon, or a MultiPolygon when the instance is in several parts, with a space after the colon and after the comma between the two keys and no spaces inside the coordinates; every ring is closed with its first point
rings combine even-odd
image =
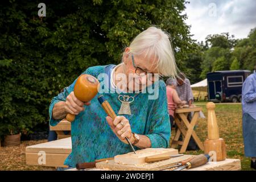
{"type": "Polygon", "coordinates": [[[48,166],[48,167],[68,167],[64,165],[65,159],[68,154],[42,154],[34,152],[26,152],[26,163],[35,166],[48,166]],[[45,157],[45,159],[43,159],[45,157]]]}

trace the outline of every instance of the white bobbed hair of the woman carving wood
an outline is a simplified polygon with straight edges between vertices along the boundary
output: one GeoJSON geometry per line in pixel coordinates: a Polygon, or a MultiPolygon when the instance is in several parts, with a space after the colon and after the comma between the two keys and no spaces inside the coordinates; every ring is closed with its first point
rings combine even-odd
{"type": "Polygon", "coordinates": [[[166,32],[156,27],[149,27],[137,35],[129,47],[134,55],[154,56],[158,60],[156,68],[160,75],[177,76],[174,52],[166,32]]]}

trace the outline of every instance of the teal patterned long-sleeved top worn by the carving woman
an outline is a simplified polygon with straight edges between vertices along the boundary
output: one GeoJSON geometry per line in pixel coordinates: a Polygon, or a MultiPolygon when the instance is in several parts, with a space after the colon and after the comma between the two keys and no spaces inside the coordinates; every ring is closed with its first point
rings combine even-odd
{"type": "MultiPolygon", "coordinates": [[[[106,67],[90,67],[82,74],[92,75],[104,83],[104,78],[99,78],[98,75],[104,73],[106,67]]],[[[53,97],[49,106],[49,123],[51,126],[60,122],[60,120],[52,118],[53,106],[59,101],[66,100],[69,93],[73,91],[75,83],[76,80],[63,92],[53,97]]],[[[159,95],[157,99],[148,100],[150,92],[139,93],[130,105],[132,114],[124,114],[123,116],[129,120],[132,132],[150,138],[152,148],[167,148],[171,130],[166,86],[163,81],[158,81],[158,84],[159,95]]],[[[135,93],[126,94],[135,95],[135,93]]],[[[75,121],[71,123],[72,152],[64,162],[69,167],[75,167],[77,163],[93,162],[97,159],[110,158],[131,152],[129,145],[122,143],[110,129],[106,121],[107,115],[97,100],[98,96],[100,96],[100,93],[93,98],[89,106],[84,106],[85,110],[76,115],[75,121]]],[[[103,93],[103,96],[117,114],[121,106],[118,93],[103,93]]],[[[135,147],[135,150],[139,150],[139,148],[135,147]]]]}

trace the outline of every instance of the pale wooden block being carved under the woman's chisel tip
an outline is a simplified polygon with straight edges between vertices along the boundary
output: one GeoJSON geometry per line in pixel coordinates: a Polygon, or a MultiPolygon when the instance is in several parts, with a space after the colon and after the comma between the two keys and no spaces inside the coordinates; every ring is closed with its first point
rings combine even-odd
{"type": "Polygon", "coordinates": [[[179,154],[178,150],[174,148],[145,148],[142,150],[137,150],[137,154],[129,152],[123,155],[114,156],[114,162],[119,164],[143,164],[146,163],[145,159],[148,156],[154,156],[158,154],[166,155],[177,155],[179,154]]]}

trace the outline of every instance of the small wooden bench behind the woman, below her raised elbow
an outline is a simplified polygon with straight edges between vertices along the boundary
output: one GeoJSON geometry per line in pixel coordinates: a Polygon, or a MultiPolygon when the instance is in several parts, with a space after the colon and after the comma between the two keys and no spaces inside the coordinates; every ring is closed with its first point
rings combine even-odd
{"type": "Polygon", "coordinates": [[[56,131],[58,139],[68,138],[70,134],[65,135],[63,131],[71,131],[71,122],[62,119],[56,126],[50,126],[50,130],[56,131]]]}

